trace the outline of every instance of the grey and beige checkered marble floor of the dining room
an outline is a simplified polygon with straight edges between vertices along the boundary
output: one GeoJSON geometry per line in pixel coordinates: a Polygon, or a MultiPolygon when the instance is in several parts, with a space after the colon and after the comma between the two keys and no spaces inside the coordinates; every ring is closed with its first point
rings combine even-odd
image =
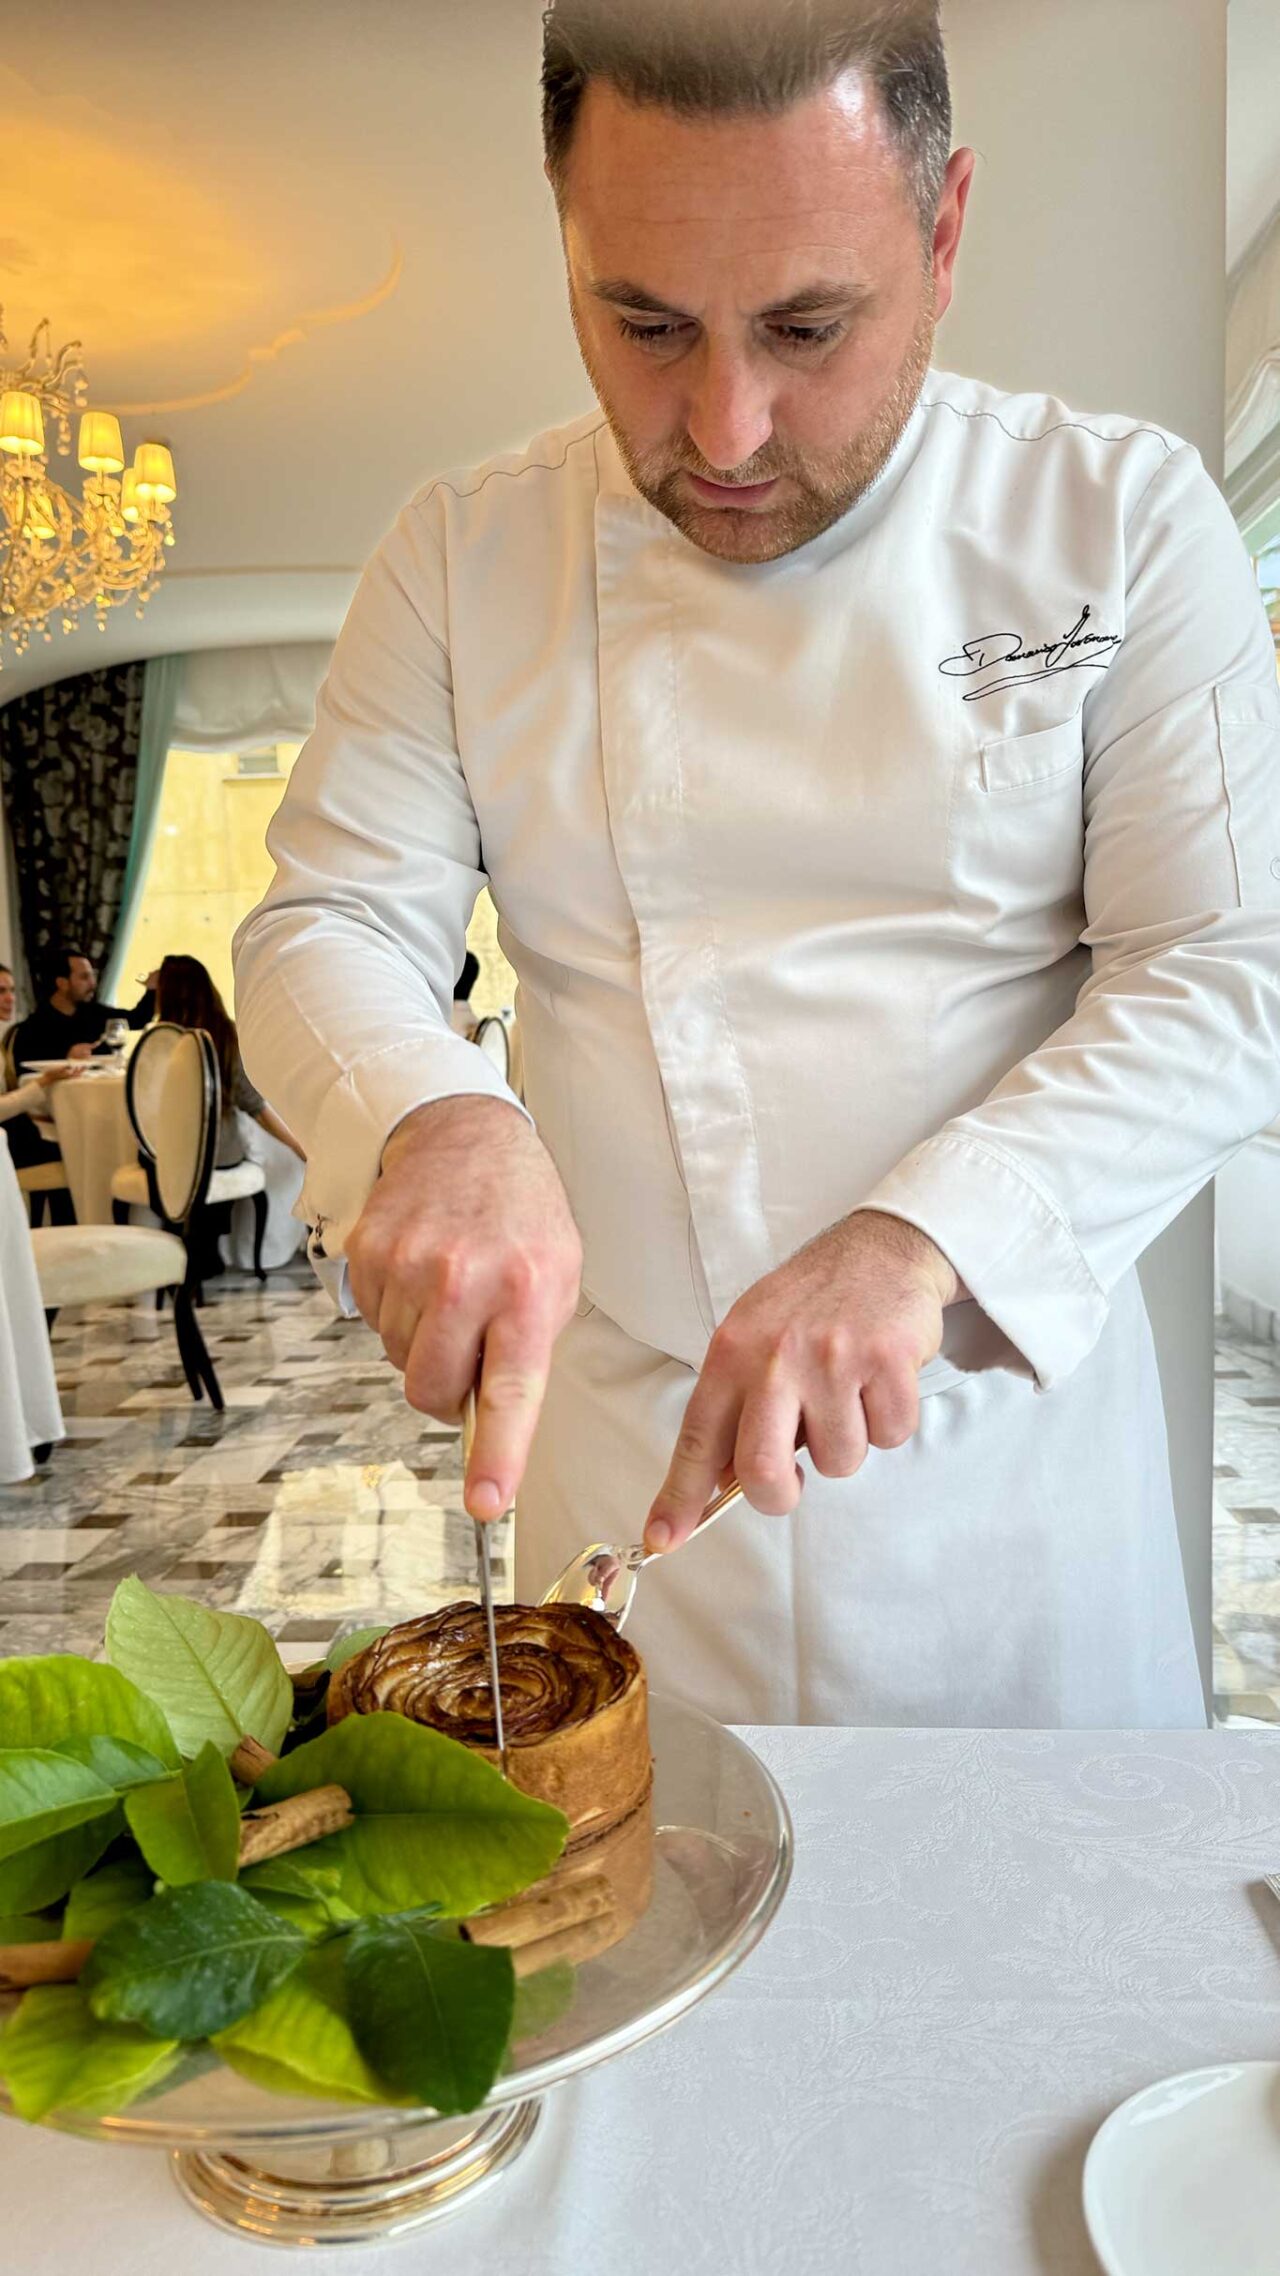
{"type": "MultiPolygon", "coordinates": [[[[210,1284],[228,1409],[187,1393],[148,1302],[64,1313],[68,1438],[0,1489],[0,1655],[93,1650],[125,1573],[255,1614],[317,1655],[339,1627],[471,1595],[453,1429],[410,1413],[360,1320],[305,1265],[210,1284]]],[[[510,1589],[499,1536],[497,1582],[510,1589]]],[[[1280,1723],[1280,1345],[1219,1322],[1214,1473],[1219,1714],[1280,1723]]]]}

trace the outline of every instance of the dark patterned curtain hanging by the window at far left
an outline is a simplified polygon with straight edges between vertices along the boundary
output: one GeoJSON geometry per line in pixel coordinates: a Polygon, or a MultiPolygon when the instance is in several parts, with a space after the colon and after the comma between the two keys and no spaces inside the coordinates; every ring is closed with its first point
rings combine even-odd
{"type": "Polygon", "coordinates": [[[71,945],[102,965],[121,913],[134,819],[146,665],[32,687],[0,710],[0,790],[36,979],[71,945]]]}

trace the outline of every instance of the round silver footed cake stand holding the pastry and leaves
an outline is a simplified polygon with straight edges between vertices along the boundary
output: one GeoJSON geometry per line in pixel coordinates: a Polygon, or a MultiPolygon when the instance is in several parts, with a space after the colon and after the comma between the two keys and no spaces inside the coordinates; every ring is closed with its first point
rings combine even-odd
{"type": "Polygon", "coordinates": [[[790,1821],[749,1746],[663,1698],[649,1700],[649,1732],[651,1900],[574,1971],[572,2003],[512,2046],[471,2117],[271,2094],[196,2058],[118,2117],[48,2124],[166,2149],[210,2221],[266,2244],[369,2244],[469,2205],[519,2158],[551,2087],[676,2023],[758,1944],[786,1891],[790,1821]]]}

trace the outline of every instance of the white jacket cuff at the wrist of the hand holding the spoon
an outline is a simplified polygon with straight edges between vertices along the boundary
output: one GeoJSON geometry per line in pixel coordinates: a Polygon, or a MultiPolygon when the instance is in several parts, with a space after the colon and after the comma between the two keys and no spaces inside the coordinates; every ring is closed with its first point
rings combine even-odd
{"type": "Polygon", "coordinates": [[[943,1131],[913,1147],[859,1206],[902,1218],[936,1243],[1041,1391],[1061,1384],[1098,1343],[1107,1293],[1061,1206],[1000,1147],[943,1131]]]}

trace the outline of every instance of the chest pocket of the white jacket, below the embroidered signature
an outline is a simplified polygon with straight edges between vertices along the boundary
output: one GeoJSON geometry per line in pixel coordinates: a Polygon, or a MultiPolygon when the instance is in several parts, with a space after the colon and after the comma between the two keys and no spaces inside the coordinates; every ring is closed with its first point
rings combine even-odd
{"type": "Polygon", "coordinates": [[[1084,920],[1084,742],[1080,719],[1000,735],[954,776],[947,874],[966,915],[1020,949],[1061,956],[1084,920]]]}

